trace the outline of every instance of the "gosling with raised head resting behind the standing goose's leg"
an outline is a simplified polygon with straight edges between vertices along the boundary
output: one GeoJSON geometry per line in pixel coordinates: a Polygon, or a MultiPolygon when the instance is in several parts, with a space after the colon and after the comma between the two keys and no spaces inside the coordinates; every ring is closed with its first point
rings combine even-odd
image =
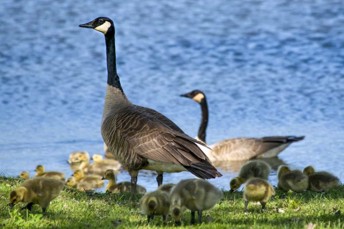
{"type": "MultiPolygon", "coordinates": [[[[131,192],[131,183],[129,181],[116,183],[116,174],[115,171],[112,169],[106,170],[101,180],[109,180],[109,184],[106,186],[106,191],[112,193],[131,192]]],[[[143,186],[137,184],[136,192],[144,194],[147,192],[147,190],[143,186]]]]}

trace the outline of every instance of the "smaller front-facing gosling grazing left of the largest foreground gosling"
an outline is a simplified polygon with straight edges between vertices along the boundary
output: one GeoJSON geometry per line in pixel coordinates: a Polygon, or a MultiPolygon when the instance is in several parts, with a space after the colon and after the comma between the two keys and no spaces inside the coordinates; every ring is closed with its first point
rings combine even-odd
{"type": "Polygon", "coordinates": [[[141,198],[140,205],[143,213],[147,215],[148,223],[150,219],[154,219],[154,215],[162,215],[166,223],[171,205],[170,194],[160,190],[147,193],[141,198]]]}

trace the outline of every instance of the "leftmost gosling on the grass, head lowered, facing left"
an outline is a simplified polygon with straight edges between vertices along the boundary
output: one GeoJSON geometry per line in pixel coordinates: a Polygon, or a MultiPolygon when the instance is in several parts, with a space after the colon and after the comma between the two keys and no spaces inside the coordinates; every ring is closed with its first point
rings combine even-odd
{"type": "Polygon", "coordinates": [[[10,209],[19,202],[28,203],[25,207],[29,211],[32,205],[41,206],[43,213],[50,202],[60,195],[64,182],[54,178],[37,177],[24,181],[20,187],[10,192],[10,209]]]}

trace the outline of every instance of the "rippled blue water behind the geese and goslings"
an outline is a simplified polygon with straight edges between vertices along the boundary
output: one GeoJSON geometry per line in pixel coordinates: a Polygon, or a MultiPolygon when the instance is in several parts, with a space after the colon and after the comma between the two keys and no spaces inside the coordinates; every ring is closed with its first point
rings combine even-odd
{"type": "MultiPolygon", "coordinates": [[[[209,144],[305,135],[280,154],[282,163],[341,176],[343,12],[341,0],[9,0],[0,6],[0,172],[33,175],[44,164],[69,175],[70,152],[103,154],[104,36],[78,24],[108,16],[131,102],[196,136],[200,107],[179,95],[203,90],[209,144]]],[[[211,182],[229,188],[237,170],[228,167],[211,182]]],[[[188,177],[166,174],[164,182],[188,177]]],[[[124,180],[127,172],[118,175],[124,180]]],[[[141,172],[138,184],[154,190],[155,175],[141,172]]]]}

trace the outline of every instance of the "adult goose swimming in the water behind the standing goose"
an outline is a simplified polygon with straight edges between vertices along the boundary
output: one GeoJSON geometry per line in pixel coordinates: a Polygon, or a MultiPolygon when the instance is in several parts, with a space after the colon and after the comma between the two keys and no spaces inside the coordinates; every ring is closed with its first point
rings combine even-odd
{"type": "MultiPolygon", "coordinates": [[[[191,98],[201,105],[202,121],[196,139],[205,143],[205,130],[208,125],[208,105],[205,94],[194,90],[181,96],[191,98]]],[[[295,136],[271,136],[263,138],[229,138],[209,146],[204,152],[212,161],[240,161],[253,158],[276,157],[292,142],[304,138],[295,136]]]]}

